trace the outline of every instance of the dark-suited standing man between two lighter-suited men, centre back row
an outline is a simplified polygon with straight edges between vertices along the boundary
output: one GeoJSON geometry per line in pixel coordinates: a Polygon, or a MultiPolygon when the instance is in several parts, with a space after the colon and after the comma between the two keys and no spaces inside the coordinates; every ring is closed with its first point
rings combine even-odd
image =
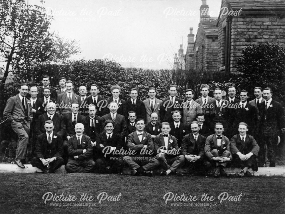
{"type": "Polygon", "coordinates": [[[176,110],[182,111],[182,100],[176,97],[177,85],[169,86],[169,97],[162,101],[160,107],[160,119],[162,122],[171,123],[172,113],[176,110]]]}

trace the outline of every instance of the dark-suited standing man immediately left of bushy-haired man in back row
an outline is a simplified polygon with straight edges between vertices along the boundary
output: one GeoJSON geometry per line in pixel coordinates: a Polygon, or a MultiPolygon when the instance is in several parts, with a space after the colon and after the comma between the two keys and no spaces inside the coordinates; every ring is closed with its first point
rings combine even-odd
{"type": "Polygon", "coordinates": [[[89,106],[90,104],[95,105],[96,114],[100,117],[104,115],[105,107],[107,106],[107,101],[102,97],[98,96],[98,86],[96,84],[90,85],[90,93],[91,96],[86,98],[86,104],[89,106]]]}

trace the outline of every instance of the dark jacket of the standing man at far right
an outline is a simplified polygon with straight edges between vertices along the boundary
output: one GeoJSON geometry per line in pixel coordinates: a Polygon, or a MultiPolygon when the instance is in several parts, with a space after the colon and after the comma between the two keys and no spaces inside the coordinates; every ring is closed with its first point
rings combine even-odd
{"type": "Polygon", "coordinates": [[[260,120],[260,134],[276,137],[280,135],[280,129],[285,128],[284,110],[282,105],[272,99],[269,108],[265,110],[265,102],[262,107],[260,120]]]}

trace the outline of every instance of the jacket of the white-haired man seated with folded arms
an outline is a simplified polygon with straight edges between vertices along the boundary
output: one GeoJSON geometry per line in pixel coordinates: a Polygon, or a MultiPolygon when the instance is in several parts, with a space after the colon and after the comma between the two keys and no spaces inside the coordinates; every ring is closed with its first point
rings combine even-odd
{"type": "Polygon", "coordinates": [[[92,159],[93,149],[91,146],[90,137],[83,134],[81,139],[81,145],[77,143],[76,134],[71,136],[68,140],[68,160],[90,160],[92,159]],[[83,150],[86,152],[83,153],[83,150]],[[74,156],[78,155],[78,159],[74,159],[74,156]]]}

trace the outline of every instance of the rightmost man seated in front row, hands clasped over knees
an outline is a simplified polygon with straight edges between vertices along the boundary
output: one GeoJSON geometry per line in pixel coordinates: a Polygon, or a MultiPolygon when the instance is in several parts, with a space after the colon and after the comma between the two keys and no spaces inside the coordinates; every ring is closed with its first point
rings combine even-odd
{"type": "Polygon", "coordinates": [[[233,164],[241,167],[243,170],[238,174],[239,177],[253,176],[248,171],[252,168],[257,171],[257,154],[259,146],[253,136],[247,134],[249,130],[246,123],[239,123],[239,134],[231,138],[231,152],[233,153],[233,164]]]}

